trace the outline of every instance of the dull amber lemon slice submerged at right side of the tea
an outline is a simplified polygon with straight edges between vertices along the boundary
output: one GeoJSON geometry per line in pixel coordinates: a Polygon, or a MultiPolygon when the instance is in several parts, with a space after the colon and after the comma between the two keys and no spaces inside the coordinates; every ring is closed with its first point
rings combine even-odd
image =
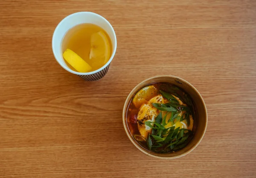
{"type": "Polygon", "coordinates": [[[97,59],[107,63],[110,58],[110,43],[106,34],[102,31],[92,34],[90,59],[97,59]]]}

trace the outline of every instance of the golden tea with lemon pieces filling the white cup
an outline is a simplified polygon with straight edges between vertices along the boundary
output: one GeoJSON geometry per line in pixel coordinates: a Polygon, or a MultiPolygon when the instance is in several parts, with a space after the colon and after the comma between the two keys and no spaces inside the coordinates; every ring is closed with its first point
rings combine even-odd
{"type": "Polygon", "coordinates": [[[92,72],[108,62],[112,54],[112,43],[104,29],[95,24],[82,23],[65,34],[61,50],[70,69],[92,72]]]}

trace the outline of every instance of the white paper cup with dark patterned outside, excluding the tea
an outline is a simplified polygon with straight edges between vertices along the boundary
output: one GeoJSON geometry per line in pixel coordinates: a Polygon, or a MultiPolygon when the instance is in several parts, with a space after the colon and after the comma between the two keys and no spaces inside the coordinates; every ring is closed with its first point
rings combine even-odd
{"type": "Polygon", "coordinates": [[[93,12],[77,12],[74,14],[70,14],[69,16],[65,17],[56,27],[53,36],[52,36],[52,51],[54,54],[55,59],[57,62],[70,73],[76,74],[79,77],[83,78],[84,80],[99,80],[104,77],[110,66],[111,61],[116,53],[116,34],[111,26],[111,24],[106,20],[104,17],[100,16],[99,14],[95,14],[93,12]],[[61,43],[62,39],[64,38],[65,34],[74,26],[79,25],[81,23],[93,23],[97,26],[100,26],[105,32],[108,33],[111,42],[112,42],[112,55],[108,62],[102,66],[100,69],[95,70],[93,72],[76,72],[71,70],[67,64],[64,62],[64,58],[62,57],[61,51],[61,43]]]}

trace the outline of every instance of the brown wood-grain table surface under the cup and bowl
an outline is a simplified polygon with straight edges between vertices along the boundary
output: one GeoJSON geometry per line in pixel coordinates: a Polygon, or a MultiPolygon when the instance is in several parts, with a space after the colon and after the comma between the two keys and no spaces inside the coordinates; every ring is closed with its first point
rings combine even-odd
{"type": "Polygon", "coordinates": [[[256,176],[255,0],[2,0],[0,178],[256,176]],[[108,74],[86,82],[52,54],[68,14],[112,24],[108,74]],[[128,92],[154,75],[192,83],[208,109],[189,155],[163,161],[131,144],[122,126],[128,92]]]}

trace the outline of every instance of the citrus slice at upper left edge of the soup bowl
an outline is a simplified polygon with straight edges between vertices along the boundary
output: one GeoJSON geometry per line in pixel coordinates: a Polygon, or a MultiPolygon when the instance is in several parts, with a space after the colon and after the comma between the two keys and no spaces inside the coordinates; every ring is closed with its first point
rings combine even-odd
{"type": "Polygon", "coordinates": [[[147,103],[153,96],[157,95],[157,88],[153,85],[145,86],[133,98],[134,106],[140,108],[144,103],[147,103]]]}

